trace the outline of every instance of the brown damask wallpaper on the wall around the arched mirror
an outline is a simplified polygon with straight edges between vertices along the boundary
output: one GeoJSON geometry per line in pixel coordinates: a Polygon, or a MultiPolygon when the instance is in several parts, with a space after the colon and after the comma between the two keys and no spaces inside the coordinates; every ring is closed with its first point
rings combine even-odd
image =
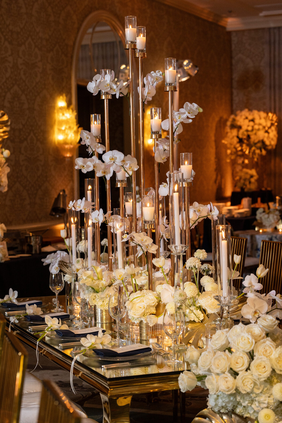
{"type": "MultiPolygon", "coordinates": [[[[230,194],[229,169],[221,144],[230,115],[230,34],[225,28],[152,0],[9,0],[1,1],[0,108],[11,118],[5,147],[11,150],[8,191],[0,195],[0,222],[16,225],[50,220],[52,201],[61,188],[73,196],[72,159],[60,157],[53,144],[57,96],[71,100],[71,58],[84,19],[105,9],[123,25],[125,15],[136,15],[147,28],[144,73],[163,69],[165,57],[190,58],[200,68],[180,86],[185,101],[204,109],[185,124],[179,152],[193,152],[196,172],[192,201],[214,200],[230,194]],[[203,171],[204,168],[204,171],[203,171]]],[[[167,114],[167,93],[157,88],[153,104],[167,114]]],[[[147,151],[146,186],[153,183],[153,157],[147,151]]],[[[165,180],[168,162],[162,165],[165,180]]],[[[69,198],[68,197],[68,198],[69,198]]]]}

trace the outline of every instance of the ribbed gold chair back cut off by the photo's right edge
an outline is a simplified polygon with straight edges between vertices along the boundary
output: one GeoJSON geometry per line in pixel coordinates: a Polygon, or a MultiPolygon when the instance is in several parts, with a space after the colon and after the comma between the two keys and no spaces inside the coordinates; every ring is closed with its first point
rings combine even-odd
{"type": "Polygon", "coordinates": [[[276,293],[281,291],[282,279],[282,242],[266,241],[261,242],[260,264],[269,269],[266,276],[259,280],[263,284],[261,294],[268,294],[271,290],[276,293]]]}

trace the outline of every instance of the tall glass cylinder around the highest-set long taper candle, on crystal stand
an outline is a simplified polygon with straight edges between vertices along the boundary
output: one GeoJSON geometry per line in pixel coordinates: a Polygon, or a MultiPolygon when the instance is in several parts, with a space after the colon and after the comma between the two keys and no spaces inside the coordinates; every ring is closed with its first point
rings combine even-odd
{"type": "Polygon", "coordinates": [[[170,245],[185,245],[183,173],[169,173],[170,245]]]}

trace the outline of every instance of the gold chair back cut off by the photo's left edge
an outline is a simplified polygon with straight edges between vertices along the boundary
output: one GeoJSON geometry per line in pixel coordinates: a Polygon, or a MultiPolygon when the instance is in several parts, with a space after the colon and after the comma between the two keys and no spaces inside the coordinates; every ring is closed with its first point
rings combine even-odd
{"type": "Polygon", "coordinates": [[[18,423],[28,354],[12,333],[6,333],[0,362],[0,422],[18,423]]]}

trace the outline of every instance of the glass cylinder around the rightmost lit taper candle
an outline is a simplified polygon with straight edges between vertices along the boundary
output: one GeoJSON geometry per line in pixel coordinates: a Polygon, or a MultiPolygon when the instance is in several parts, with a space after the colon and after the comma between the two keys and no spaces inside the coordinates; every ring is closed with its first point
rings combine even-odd
{"type": "Polygon", "coordinates": [[[234,298],[231,273],[231,226],[216,225],[216,240],[219,302],[228,304],[234,298]]]}

